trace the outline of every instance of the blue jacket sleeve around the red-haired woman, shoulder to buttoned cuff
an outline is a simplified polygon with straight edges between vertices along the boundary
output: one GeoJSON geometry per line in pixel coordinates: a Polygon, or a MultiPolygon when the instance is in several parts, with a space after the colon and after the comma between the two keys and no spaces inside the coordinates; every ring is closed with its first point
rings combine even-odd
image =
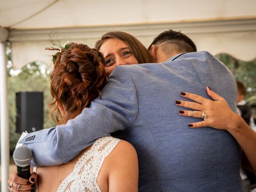
{"type": "Polygon", "coordinates": [[[20,143],[33,152],[32,166],[68,162],[97,138],[131,126],[138,114],[136,89],[124,66],[112,72],[102,99],[91,102],[76,118],[56,128],[28,134],[20,143]]]}

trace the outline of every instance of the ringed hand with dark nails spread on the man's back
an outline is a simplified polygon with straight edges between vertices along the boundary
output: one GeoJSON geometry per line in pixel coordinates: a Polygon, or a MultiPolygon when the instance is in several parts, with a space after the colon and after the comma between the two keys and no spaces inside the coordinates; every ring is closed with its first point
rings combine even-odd
{"type": "Polygon", "coordinates": [[[181,96],[188,98],[195,102],[180,101],[176,102],[176,105],[190,108],[192,110],[180,110],[179,114],[182,116],[192,116],[196,118],[202,118],[202,113],[206,115],[203,121],[190,123],[188,126],[191,128],[200,128],[200,127],[212,127],[220,130],[229,130],[236,126],[237,121],[241,121],[241,117],[234,113],[226,100],[212,91],[209,87],[206,88],[208,95],[213,99],[206,99],[202,96],[181,92],[181,96]],[[232,119],[232,121],[230,121],[232,119]]]}

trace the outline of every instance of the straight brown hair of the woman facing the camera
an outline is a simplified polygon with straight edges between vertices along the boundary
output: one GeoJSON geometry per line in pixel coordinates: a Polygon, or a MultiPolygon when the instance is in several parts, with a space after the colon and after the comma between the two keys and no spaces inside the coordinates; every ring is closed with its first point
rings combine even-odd
{"type": "Polygon", "coordinates": [[[138,61],[138,64],[141,63],[152,63],[152,56],[150,52],[146,49],[146,47],[134,36],[121,31],[113,31],[105,33],[100,40],[98,40],[94,46],[97,50],[100,50],[100,46],[108,40],[109,38],[113,39],[119,39],[124,41],[136,60],[138,61]]]}

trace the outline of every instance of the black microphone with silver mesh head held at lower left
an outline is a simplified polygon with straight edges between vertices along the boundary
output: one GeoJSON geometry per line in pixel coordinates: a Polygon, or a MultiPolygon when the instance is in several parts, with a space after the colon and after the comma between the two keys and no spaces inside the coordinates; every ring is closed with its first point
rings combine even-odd
{"type": "Polygon", "coordinates": [[[12,157],[17,166],[17,174],[19,177],[29,179],[32,156],[32,151],[26,146],[22,145],[14,150],[12,157]]]}

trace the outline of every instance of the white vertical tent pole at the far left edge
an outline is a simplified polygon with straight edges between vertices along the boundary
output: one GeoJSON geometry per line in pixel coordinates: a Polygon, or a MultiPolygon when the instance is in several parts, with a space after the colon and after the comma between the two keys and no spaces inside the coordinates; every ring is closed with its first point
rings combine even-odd
{"type": "Polygon", "coordinates": [[[7,192],[9,178],[10,146],[7,100],[6,39],[8,32],[0,28],[0,134],[1,134],[1,191],[7,192]]]}

